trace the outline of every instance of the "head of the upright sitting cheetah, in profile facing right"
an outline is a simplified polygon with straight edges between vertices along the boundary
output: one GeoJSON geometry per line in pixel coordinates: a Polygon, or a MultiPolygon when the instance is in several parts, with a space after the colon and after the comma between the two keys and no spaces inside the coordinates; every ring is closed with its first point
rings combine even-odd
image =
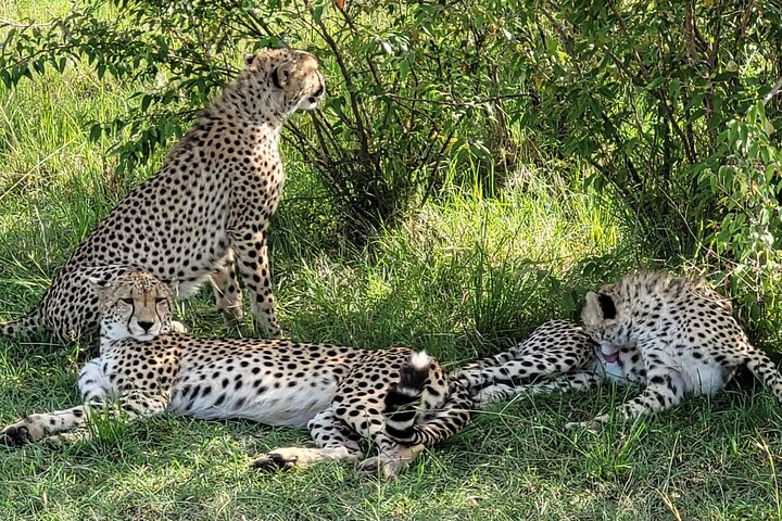
{"type": "Polygon", "coordinates": [[[326,94],[320,65],[308,52],[275,49],[245,54],[244,65],[237,84],[251,94],[262,94],[266,98],[263,101],[283,117],[298,110],[314,110],[326,94]]]}

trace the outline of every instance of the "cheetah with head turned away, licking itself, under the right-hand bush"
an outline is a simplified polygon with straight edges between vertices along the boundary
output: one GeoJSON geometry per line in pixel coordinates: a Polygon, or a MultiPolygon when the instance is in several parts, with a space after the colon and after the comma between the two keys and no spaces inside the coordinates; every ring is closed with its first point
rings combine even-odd
{"type": "MultiPolygon", "coordinates": [[[[644,385],[616,416],[635,419],[689,395],[715,394],[746,367],[782,401],[782,376],[749,344],[730,301],[702,281],[641,272],[589,292],[583,328],[547,322],[518,348],[456,373],[479,403],[519,393],[585,390],[603,380],[644,385]],[[585,361],[584,361],[585,360],[585,361]],[[553,377],[533,381],[540,377],[553,377]]],[[[568,427],[597,428],[613,415],[568,427]]]]}

